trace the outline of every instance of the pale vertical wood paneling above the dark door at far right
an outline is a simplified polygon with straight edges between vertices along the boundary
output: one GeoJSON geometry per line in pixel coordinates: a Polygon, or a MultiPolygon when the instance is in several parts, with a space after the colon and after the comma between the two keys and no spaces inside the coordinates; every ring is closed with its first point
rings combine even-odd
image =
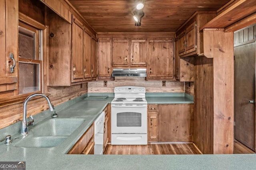
{"type": "Polygon", "coordinates": [[[234,32],[234,47],[256,41],[256,24],[234,32]]]}

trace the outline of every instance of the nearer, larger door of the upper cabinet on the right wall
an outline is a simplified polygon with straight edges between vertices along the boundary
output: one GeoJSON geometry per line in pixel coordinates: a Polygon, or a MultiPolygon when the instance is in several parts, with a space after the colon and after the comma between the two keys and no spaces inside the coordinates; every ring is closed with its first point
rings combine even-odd
{"type": "Polygon", "coordinates": [[[186,54],[196,51],[196,21],[186,29],[186,54]]]}

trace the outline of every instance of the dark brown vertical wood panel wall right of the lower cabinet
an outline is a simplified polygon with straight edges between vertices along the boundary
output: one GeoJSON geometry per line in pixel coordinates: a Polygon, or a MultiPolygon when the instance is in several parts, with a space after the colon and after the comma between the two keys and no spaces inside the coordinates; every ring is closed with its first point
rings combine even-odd
{"type": "Polygon", "coordinates": [[[213,59],[196,58],[194,143],[202,153],[213,153],[213,59]]]}

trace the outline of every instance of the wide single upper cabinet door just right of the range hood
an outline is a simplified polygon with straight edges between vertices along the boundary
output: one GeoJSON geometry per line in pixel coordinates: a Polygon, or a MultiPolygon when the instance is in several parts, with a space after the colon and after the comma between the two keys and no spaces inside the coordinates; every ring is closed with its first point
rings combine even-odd
{"type": "Polygon", "coordinates": [[[172,38],[149,39],[148,79],[173,79],[172,38]]]}

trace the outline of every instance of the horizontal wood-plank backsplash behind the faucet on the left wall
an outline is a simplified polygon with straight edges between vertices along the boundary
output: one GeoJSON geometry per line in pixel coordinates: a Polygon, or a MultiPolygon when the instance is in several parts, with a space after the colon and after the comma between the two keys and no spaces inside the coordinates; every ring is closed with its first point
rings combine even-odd
{"type": "MultiPolygon", "coordinates": [[[[58,106],[63,102],[81,96],[87,92],[87,83],[67,87],[48,87],[48,93],[52,104],[58,106]]],[[[46,92],[47,93],[47,92],[46,92]]],[[[0,105],[0,129],[16,123],[23,118],[23,102],[6,103],[0,105]]],[[[43,98],[36,98],[28,102],[27,117],[36,115],[48,109],[48,103],[43,98]]]]}

